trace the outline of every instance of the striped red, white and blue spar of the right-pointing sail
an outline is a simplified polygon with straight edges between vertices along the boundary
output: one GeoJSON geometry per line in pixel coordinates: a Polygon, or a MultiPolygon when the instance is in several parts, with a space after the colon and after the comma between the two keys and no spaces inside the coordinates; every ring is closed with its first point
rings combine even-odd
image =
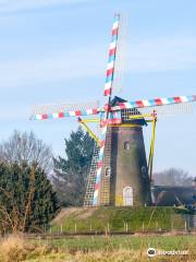
{"type": "Polygon", "coordinates": [[[143,99],[136,102],[120,103],[119,106],[112,107],[111,110],[134,109],[134,108],[161,108],[162,106],[180,105],[196,102],[196,95],[174,96],[167,98],[143,99]]]}

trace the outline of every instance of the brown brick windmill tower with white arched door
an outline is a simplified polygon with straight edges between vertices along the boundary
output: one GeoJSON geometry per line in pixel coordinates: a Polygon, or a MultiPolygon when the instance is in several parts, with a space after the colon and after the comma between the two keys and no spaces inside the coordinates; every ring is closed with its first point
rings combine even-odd
{"type": "MultiPolygon", "coordinates": [[[[120,103],[125,100],[114,97],[110,106],[120,103]]],[[[100,188],[94,193],[94,203],[150,205],[150,179],[143,136],[143,127],[147,122],[144,118],[128,119],[128,116],[139,115],[137,109],[123,109],[119,114],[118,118],[108,119],[105,154],[99,164],[102,165],[100,188]]]]}

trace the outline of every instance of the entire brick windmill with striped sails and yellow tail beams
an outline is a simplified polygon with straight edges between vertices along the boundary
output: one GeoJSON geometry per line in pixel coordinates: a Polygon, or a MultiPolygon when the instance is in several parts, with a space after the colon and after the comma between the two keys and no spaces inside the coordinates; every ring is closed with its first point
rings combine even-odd
{"type": "Polygon", "coordinates": [[[150,205],[150,181],[157,116],[189,110],[196,95],[127,102],[113,96],[119,53],[120,15],[114,15],[105,84],[105,105],[97,103],[37,106],[32,120],[76,117],[95,139],[95,154],[84,205],[150,205]],[[96,116],[91,119],[89,116],[96,116]],[[82,119],[85,117],[85,119],[82,119]],[[97,136],[88,122],[99,122],[97,136]],[[147,164],[143,128],[152,122],[152,139],[147,164]]]}

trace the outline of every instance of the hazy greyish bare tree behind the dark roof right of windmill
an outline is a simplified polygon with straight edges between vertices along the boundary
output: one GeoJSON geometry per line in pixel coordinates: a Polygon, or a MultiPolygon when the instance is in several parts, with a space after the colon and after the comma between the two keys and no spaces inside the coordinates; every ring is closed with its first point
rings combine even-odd
{"type": "Polygon", "coordinates": [[[191,187],[193,184],[193,177],[183,169],[169,168],[160,172],[155,172],[154,181],[157,186],[191,187]]]}

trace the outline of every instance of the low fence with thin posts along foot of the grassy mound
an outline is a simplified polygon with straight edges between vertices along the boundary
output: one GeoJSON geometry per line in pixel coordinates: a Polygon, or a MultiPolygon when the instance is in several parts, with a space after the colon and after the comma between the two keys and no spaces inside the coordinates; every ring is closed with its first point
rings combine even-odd
{"type": "Polygon", "coordinates": [[[134,234],[134,233],[166,233],[166,231],[196,231],[196,215],[172,215],[170,221],[126,222],[118,224],[112,222],[102,225],[93,222],[73,222],[44,226],[44,234],[134,234]]]}

